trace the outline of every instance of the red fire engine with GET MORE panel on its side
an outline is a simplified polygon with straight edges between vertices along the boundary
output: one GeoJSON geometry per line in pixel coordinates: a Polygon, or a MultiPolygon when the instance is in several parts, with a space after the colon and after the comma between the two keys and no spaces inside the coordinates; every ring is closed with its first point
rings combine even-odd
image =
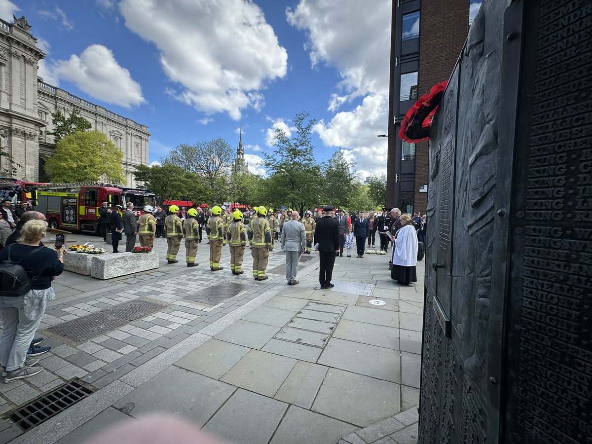
{"type": "Polygon", "coordinates": [[[98,234],[98,208],[102,201],[109,207],[128,202],[134,204],[136,217],[144,214],[145,205],[157,205],[156,195],[149,189],[124,188],[111,184],[50,184],[38,186],[36,211],[45,214],[54,229],[79,230],[98,234]]]}

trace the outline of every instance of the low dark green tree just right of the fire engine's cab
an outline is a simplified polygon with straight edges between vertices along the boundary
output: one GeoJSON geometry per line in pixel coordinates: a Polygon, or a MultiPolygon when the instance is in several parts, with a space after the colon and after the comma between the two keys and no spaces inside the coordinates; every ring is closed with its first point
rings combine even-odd
{"type": "Polygon", "coordinates": [[[151,189],[160,202],[171,199],[190,200],[192,202],[208,200],[206,190],[200,184],[196,173],[187,172],[176,165],[138,165],[134,179],[144,183],[144,188],[151,189]]]}

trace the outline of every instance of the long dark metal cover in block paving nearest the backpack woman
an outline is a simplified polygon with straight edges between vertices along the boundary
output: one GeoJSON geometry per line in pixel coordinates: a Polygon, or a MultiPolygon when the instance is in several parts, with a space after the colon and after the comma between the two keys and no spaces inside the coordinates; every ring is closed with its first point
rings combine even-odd
{"type": "Polygon", "coordinates": [[[166,308],[166,305],[136,299],[57,324],[47,330],[74,342],[83,342],[103,333],[111,332],[111,330],[118,329],[131,321],[148,316],[163,308],[166,308]]]}

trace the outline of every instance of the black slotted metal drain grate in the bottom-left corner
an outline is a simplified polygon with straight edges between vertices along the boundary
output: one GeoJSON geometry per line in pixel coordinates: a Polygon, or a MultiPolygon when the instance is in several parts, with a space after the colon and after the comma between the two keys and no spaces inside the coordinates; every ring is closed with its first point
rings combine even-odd
{"type": "Polygon", "coordinates": [[[56,390],[19,408],[11,414],[10,419],[22,430],[33,429],[91,393],[91,389],[78,384],[78,382],[66,382],[56,390]]]}

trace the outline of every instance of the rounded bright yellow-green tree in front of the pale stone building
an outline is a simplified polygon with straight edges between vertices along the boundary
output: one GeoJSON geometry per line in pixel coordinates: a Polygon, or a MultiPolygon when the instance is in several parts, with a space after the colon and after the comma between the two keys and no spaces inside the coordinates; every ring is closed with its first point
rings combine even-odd
{"type": "Polygon", "coordinates": [[[94,182],[102,178],[122,183],[123,153],[101,131],[76,131],[56,144],[45,163],[53,182],[94,182]]]}

